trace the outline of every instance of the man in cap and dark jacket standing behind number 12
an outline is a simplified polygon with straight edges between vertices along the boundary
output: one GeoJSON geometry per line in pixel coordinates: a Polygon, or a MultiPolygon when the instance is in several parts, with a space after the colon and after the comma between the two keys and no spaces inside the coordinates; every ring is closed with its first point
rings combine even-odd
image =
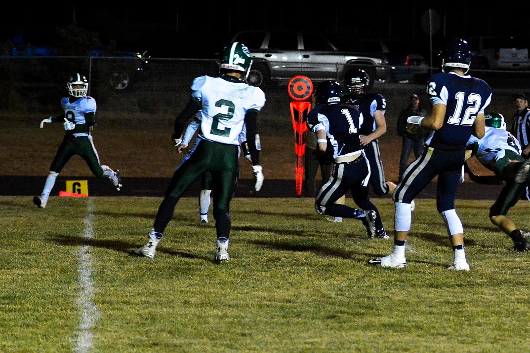
{"type": "Polygon", "coordinates": [[[425,109],[420,105],[420,97],[417,94],[410,96],[410,104],[404,108],[398,116],[398,135],[402,137],[401,159],[399,162],[399,181],[409,165],[410,152],[414,151],[414,158],[418,158],[423,152],[426,131],[418,129],[415,133],[410,133],[405,129],[409,116],[425,116],[425,109]]]}

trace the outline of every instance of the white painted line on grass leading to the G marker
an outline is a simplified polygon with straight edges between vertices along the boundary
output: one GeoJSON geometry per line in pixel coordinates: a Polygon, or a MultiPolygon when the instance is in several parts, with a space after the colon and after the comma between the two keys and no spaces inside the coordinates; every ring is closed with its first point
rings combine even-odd
{"type": "MultiPolygon", "coordinates": [[[[94,220],[94,209],[92,197],[89,198],[88,215],[85,218],[84,242],[90,244],[94,238],[92,221],[94,220]]],[[[84,245],[79,250],[79,265],[77,267],[80,291],[77,303],[81,308],[81,322],[76,334],[76,352],[89,352],[93,348],[93,332],[95,321],[99,317],[98,307],[93,302],[94,287],[92,283],[92,261],[90,256],[90,245],[84,245]]]]}

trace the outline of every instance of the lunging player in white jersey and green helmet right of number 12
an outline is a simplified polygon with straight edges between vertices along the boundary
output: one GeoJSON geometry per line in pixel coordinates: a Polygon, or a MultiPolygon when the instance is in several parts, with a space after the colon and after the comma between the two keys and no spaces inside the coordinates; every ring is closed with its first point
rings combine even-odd
{"type": "MultiPolygon", "coordinates": [[[[471,135],[467,141],[466,160],[475,156],[481,165],[495,173],[501,181],[506,182],[497,200],[490,208],[490,221],[497,225],[514,241],[515,251],[530,251],[530,243],[523,237],[515,222],[506,215],[527,187],[530,160],[521,156],[519,141],[506,131],[504,116],[490,113],[485,116],[485,134],[482,139],[471,135]]],[[[488,183],[487,176],[480,177],[466,165],[470,179],[477,183],[488,183]]]]}

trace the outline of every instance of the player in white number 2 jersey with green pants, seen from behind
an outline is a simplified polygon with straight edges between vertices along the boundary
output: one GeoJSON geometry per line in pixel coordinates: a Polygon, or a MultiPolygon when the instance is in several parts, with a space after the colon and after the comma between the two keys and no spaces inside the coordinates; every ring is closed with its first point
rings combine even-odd
{"type": "MultiPolygon", "coordinates": [[[[239,173],[239,135],[246,125],[254,177],[262,171],[257,147],[257,116],[265,104],[265,94],[259,87],[246,83],[252,57],[239,42],[228,44],[220,57],[219,77],[200,76],[191,84],[190,101],[176,117],[172,140],[176,147],[182,143],[187,122],[200,114],[200,142],[195,152],[175,170],[145,246],[135,250],[138,256],[154,258],[156,246],[182,194],[205,173],[212,175],[213,213],[217,235],[215,261],[227,263],[228,240],[232,229],[230,202],[239,173]]],[[[261,180],[262,182],[263,180],[261,180]]],[[[259,180],[256,180],[259,182],[259,180]]]]}

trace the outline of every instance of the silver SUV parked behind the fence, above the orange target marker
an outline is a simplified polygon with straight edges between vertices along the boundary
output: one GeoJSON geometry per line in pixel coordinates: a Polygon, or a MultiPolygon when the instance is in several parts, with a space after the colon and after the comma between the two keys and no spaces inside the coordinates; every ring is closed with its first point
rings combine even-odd
{"type": "Polygon", "coordinates": [[[302,31],[244,31],[232,37],[249,48],[253,64],[248,82],[261,86],[274,81],[286,84],[297,75],[313,82],[342,81],[351,67],[365,69],[370,84],[390,77],[384,55],[342,52],[318,33],[302,31]]]}

